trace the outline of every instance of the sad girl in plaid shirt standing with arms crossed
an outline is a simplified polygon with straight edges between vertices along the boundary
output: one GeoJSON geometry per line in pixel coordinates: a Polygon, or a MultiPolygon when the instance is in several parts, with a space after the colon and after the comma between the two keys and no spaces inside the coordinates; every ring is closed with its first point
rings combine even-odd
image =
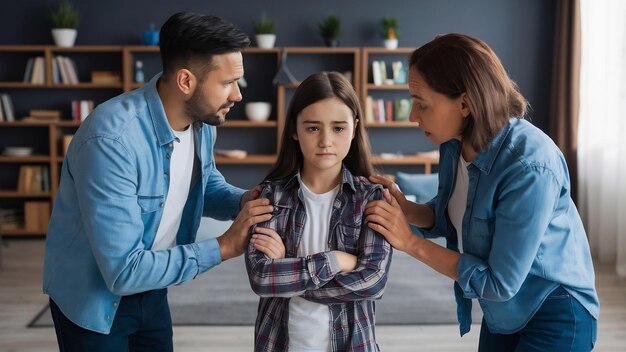
{"type": "Polygon", "coordinates": [[[255,351],[378,351],[374,300],[391,246],[364,223],[382,199],[354,89],[338,73],[307,78],[291,100],[278,161],[262,197],[274,217],[256,228],[246,257],[261,296],[255,351]]]}

